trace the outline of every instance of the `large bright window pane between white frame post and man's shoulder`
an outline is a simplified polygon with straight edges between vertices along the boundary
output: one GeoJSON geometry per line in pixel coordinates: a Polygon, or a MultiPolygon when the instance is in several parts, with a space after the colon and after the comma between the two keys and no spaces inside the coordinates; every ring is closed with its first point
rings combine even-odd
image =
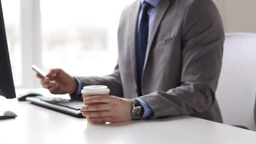
{"type": "Polygon", "coordinates": [[[41,0],[43,69],[102,76],[117,64],[120,14],[133,0],[41,0]]]}

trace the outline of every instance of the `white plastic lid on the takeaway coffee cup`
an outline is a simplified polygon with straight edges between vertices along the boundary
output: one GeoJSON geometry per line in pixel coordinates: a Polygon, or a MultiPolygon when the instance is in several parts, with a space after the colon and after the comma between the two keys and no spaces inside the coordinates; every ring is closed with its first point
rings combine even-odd
{"type": "Polygon", "coordinates": [[[84,94],[104,94],[110,93],[109,89],[105,85],[90,85],[83,87],[81,93],[84,94]]]}

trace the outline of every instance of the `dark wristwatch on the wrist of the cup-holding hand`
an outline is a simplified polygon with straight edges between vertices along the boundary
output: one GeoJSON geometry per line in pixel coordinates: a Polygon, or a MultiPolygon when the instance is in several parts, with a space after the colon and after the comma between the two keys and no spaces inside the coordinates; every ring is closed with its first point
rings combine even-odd
{"type": "Polygon", "coordinates": [[[144,115],[144,108],[138,100],[131,99],[131,101],[133,103],[133,109],[131,111],[131,116],[132,116],[133,120],[139,120],[144,115]]]}

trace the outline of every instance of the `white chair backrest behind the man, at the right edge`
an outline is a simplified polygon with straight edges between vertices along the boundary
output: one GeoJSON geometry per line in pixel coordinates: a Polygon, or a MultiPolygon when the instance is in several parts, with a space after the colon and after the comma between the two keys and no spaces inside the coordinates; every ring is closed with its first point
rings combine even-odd
{"type": "Polygon", "coordinates": [[[226,35],[216,98],[224,124],[256,131],[256,34],[226,35]]]}

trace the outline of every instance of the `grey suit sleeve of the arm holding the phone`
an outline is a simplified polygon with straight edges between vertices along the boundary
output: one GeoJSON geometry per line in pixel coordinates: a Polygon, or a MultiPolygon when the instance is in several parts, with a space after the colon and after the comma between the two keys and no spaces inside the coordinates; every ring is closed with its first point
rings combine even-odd
{"type": "Polygon", "coordinates": [[[81,81],[81,88],[88,85],[107,85],[110,95],[123,97],[123,88],[118,64],[111,75],[104,77],[77,77],[81,81]]]}

